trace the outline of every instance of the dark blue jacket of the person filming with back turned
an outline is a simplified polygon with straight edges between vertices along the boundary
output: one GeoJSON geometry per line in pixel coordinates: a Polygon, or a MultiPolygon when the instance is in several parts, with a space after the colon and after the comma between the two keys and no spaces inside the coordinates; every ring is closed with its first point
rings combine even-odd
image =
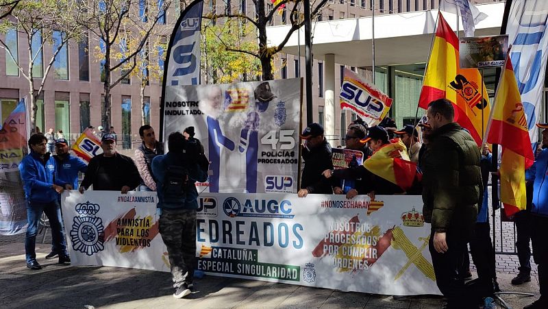
{"type": "Polygon", "coordinates": [[[158,188],[158,206],[157,208],[164,209],[198,209],[198,191],[196,190],[195,182],[205,182],[208,180],[208,174],[201,169],[195,162],[190,162],[185,157],[178,157],[175,153],[169,152],[165,155],[155,156],[152,160],[152,173],[156,180],[156,188],[158,188]],[[164,178],[166,171],[170,165],[176,165],[178,162],[186,162],[188,169],[188,183],[186,186],[186,197],[177,203],[166,203],[164,201],[164,178]]]}

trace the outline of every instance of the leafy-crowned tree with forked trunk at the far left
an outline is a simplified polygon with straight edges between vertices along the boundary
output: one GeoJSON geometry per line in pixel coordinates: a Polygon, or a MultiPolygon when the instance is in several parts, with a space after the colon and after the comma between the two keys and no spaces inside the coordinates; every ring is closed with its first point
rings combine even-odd
{"type": "Polygon", "coordinates": [[[38,110],[36,101],[42,95],[46,78],[55,58],[69,40],[78,39],[82,35],[82,28],[75,23],[78,18],[75,3],[76,1],[71,0],[21,0],[18,5],[12,8],[10,16],[4,18],[0,24],[0,32],[6,34],[11,29],[16,29],[18,33],[25,35],[28,44],[28,65],[23,68],[21,62],[18,61],[18,56],[12,53],[5,40],[0,40],[0,47],[3,47],[7,55],[16,63],[19,72],[29,84],[28,96],[32,106],[30,119],[32,132],[36,130],[36,110],[38,110]],[[42,68],[43,51],[48,45],[53,46],[53,55],[47,62],[47,66],[42,68]],[[36,66],[36,64],[40,64],[40,66],[36,66]],[[38,79],[38,89],[35,86],[35,77],[41,77],[38,79]]]}

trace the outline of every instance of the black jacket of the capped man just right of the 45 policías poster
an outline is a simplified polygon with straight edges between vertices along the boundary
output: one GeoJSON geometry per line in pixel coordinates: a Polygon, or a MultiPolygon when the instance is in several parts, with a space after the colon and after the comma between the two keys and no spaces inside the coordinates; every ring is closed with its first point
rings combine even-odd
{"type": "Polygon", "coordinates": [[[321,175],[326,169],[333,169],[331,145],[324,138],[323,143],[310,151],[303,149],[302,156],[304,168],[301,175],[301,189],[307,189],[308,193],[332,194],[331,181],[321,175]]]}

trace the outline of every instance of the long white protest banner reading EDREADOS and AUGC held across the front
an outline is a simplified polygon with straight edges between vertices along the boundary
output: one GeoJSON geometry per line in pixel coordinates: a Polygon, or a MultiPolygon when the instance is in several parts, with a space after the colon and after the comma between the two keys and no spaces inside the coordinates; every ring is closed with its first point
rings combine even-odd
{"type": "MultiPolygon", "coordinates": [[[[76,191],[62,207],[73,265],[169,271],[155,193],[76,191]]],[[[212,275],[386,295],[440,294],[420,196],[208,193],[197,269],[212,275]]]]}

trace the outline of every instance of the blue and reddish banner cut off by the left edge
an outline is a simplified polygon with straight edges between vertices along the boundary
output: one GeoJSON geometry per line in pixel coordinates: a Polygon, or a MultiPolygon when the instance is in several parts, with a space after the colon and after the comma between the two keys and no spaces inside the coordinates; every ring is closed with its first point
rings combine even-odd
{"type": "Polygon", "coordinates": [[[27,207],[18,165],[27,154],[25,100],[0,127],[0,235],[25,232],[27,207]]]}

